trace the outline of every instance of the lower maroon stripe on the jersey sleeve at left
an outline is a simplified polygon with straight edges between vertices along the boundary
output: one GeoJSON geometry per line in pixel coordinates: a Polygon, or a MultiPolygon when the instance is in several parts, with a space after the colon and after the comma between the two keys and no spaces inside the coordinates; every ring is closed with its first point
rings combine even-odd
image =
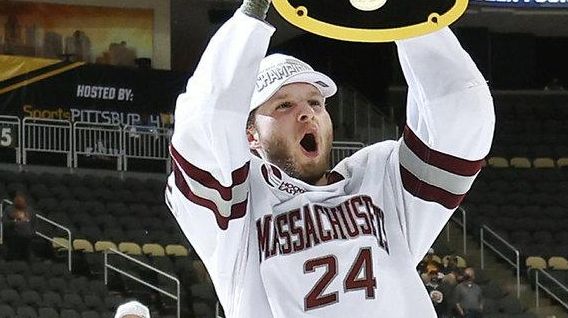
{"type": "Polygon", "coordinates": [[[248,199],[244,200],[243,202],[239,202],[239,203],[235,203],[231,206],[231,213],[228,217],[224,217],[221,215],[221,213],[219,212],[219,209],[217,207],[217,205],[215,204],[215,202],[202,198],[200,196],[195,195],[195,193],[193,193],[189,187],[189,185],[187,184],[187,182],[185,181],[183,174],[181,173],[181,171],[179,170],[179,167],[174,164],[173,166],[173,170],[174,170],[174,178],[175,178],[175,183],[176,183],[176,187],[179,189],[179,191],[191,202],[202,206],[204,208],[209,209],[211,212],[213,212],[213,214],[215,215],[215,220],[217,221],[217,225],[219,226],[220,229],[222,230],[227,230],[229,228],[229,221],[234,220],[234,219],[239,219],[242,218],[243,216],[245,216],[246,212],[247,212],[247,204],[248,204],[248,199]]]}

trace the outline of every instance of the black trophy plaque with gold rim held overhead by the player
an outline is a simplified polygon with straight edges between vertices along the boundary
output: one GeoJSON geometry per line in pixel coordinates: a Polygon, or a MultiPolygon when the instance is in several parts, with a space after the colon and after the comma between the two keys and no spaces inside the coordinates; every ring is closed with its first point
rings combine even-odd
{"type": "Polygon", "coordinates": [[[468,0],[272,0],[293,25],[324,37],[390,42],[454,23],[468,0]]]}

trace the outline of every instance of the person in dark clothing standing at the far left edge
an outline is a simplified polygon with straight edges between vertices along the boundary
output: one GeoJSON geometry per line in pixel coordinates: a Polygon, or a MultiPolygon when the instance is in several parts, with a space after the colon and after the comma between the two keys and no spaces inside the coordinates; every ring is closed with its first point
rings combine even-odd
{"type": "Polygon", "coordinates": [[[28,260],[36,222],[35,213],[28,206],[24,194],[14,196],[13,205],[6,210],[3,218],[6,259],[28,260]]]}

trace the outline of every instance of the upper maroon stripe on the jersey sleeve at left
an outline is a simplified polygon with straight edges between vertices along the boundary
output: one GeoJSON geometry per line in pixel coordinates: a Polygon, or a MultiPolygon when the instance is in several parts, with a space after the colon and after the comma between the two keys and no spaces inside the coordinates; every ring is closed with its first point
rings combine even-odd
{"type": "Polygon", "coordinates": [[[191,179],[199,182],[201,185],[217,190],[221,195],[223,200],[229,201],[233,198],[232,189],[233,187],[242,184],[247,179],[250,167],[250,161],[247,161],[244,166],[234,170],[231,173],[232,184],[228,187],[221,185],[221,183],[213,177],[209,171],[205,171],[192,165],[173,147],[170,147],[170,152],[172,157],[177,162],[179,167],[187,174],[191,179]]]}

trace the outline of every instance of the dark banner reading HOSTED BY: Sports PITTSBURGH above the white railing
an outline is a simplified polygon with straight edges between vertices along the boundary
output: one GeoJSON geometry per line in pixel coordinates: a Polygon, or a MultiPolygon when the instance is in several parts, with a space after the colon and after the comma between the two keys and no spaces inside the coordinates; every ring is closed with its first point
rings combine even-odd
{"type": "Polygon", "coordinates": [[[169,127],[189,74],[0,55],[0,114],[169,127]],[[18,64],[20,63],[20,64],[18,64]]]}

